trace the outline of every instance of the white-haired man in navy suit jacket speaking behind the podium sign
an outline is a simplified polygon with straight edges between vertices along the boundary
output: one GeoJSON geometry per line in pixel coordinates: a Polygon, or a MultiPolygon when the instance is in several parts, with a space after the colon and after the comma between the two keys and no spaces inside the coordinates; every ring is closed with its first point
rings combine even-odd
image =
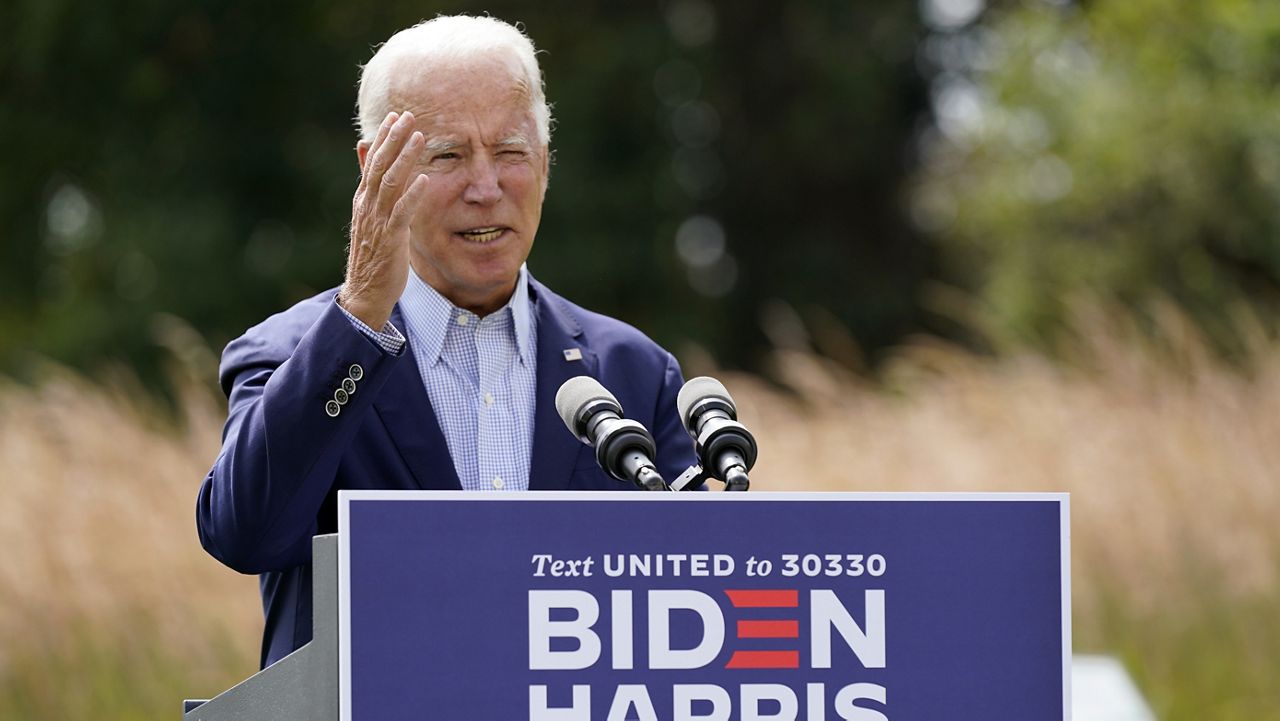
{"type": "Polygon", "coordinates": [[[598,378],[652,429],[664,476],[694,462],[675,357],[525,268],[550,134],[529,38],[494,18],[421,23],[365,65],[358,102],[346,279],[227,346],[223,448],[197,501],[205,549],[261,575],[264,666],[311,638],[311,537],[337,530],[339,489],[625,488],[557,417],[568,378],[598,378]]]}

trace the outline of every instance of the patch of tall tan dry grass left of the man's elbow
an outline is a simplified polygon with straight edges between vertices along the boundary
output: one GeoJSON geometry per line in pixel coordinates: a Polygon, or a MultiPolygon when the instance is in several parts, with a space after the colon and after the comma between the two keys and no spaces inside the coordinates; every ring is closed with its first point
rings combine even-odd
{"type": "Polygon", "coordinates": [[[177,717],[256,668],[256,580],[195,533],[225,411],[196,384],[177,420],[154,396],[0,383],[0,718],[177,717]]]}

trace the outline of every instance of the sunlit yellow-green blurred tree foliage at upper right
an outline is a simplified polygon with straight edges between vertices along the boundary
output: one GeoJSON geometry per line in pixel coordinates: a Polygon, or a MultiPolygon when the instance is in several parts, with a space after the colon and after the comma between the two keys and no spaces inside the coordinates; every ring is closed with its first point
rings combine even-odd
{"type": "Polygon", "coordinates": [[[1280,5],[1059,5],[938,41],[973,53],[936,81],[915,211],[997,341],[1046,341],[1082,292],[1167,295],[1211,333],[1274,305],[1280,5]]]}

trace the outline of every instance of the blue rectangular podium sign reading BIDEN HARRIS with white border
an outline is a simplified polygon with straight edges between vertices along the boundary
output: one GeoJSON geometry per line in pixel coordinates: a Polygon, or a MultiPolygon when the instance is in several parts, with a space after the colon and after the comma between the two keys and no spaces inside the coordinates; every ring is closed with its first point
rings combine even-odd
{"type": "Polygon", "coordinates": [[[339,492],[343,721],[1070,718],[1065,494],[339,492]]]}

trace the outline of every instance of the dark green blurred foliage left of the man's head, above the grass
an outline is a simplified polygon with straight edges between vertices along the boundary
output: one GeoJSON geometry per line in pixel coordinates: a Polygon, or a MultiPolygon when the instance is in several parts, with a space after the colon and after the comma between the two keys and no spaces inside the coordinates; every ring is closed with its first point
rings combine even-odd
{"type": "Polygon", "coordinates": [[[340,278],[346,123],[367,28],[305,4],[19,3],[0,76],[0,355],[154,360],[175,312],[227,339],[340,278]],[[274,47],[276,53],[269,54],[274,47]],[[335,78],[340,78],[335,82],[335,78]]]}

